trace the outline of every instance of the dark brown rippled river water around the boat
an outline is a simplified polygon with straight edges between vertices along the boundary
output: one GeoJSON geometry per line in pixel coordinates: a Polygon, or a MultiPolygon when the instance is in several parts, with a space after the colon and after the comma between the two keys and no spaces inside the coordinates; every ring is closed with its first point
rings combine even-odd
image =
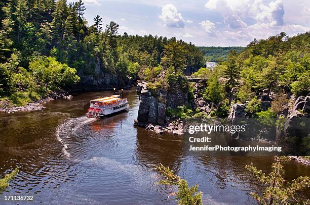
{"type": "MultiPolygon", "coordinates": [[[[152,165],[162,163],[199,182],[206,204],[256,204],[249,192],[263,188],[245,169],[254,163],[270,171],[272,157],[190,155],[182,137],[134,127],[139,97],[126,90],[129,111],[109,118],[84,117],[89,100],[109,91],[50,101],[42,111],[0,115],[0,177],[20,173],[0,195],[33,195],[32,202],[4,204],[176,204],[173,187],[156,185],[152,165]]],[[[310,175],[310,168],[285,164],[286,178],[310,175]]]]}

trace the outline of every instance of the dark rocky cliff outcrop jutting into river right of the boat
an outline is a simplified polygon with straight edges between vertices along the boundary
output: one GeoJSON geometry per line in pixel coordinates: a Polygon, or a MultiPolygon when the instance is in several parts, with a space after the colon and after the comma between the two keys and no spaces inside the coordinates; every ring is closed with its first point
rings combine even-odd
{"type": "Polygon", "coordinates": [[[159,134],[164,131],[183,134],[183,125],[180,122],[177,122],[177,126],[172,129],[170,119],[166,116],[166,109],[168,107],[176,109],[178,106],[187,105],[187,91],[179,88],[169,89],[169,91],[163,88],[149,91],[147,83],[140,82],[137,85],[137,93],[139,94],[139,110],[135,125],[146,127],[159,134]],[[159,125],[161,128],[153,125],[159,125]]]}

